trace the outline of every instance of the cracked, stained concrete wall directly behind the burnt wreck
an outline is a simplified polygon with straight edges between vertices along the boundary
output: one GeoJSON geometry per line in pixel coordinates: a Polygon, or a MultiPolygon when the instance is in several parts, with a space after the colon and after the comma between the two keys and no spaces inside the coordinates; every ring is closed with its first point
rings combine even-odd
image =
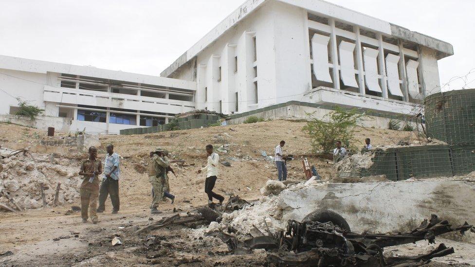
{"type": "Polygon", "coordinates": [[[454,225],[475,223],[475,182],[399,181],[312,184],[284,190],[278,205],[282,221],[302,220],[316,209],[341,214],[352,231],[408,231],[437,214],[454,225]]]}

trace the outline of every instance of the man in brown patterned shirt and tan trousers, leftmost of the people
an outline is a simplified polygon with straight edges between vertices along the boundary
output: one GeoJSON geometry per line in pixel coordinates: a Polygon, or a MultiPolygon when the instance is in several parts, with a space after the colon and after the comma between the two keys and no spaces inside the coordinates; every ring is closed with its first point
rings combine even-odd
{"type": "Polygon", "coordinates": [[[79,170],[79,175],[83,176],[81,183],[81,217],[82,222],[88,222],[88,207],[89,216],[92,223],[96,224],[97,214],[97,197],[99,196],[99,175],[102,173],[102,164],[97,160],[97,149],[94,146],[89,148],[89,159],[84,160],[79,170]]]}

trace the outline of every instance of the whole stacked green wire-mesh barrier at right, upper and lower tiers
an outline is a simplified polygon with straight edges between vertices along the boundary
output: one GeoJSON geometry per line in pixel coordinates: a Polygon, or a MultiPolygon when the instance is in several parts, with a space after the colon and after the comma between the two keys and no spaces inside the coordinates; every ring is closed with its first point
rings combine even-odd
{"type": "Polygon", "coordinates": [[[451,177],[475,171],[475,89],[441,92],[425,101],[427,145],[397,146],[352,155],[338,176],[385,175],[390,180],[451,177]]]}

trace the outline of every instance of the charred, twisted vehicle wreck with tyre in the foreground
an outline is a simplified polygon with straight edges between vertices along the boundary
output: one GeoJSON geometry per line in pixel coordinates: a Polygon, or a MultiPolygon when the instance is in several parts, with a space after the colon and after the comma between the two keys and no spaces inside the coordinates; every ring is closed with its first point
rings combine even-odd
{"type": "Polygon", "coordinates": [[[354,233],[346,220],[329,210],[317,210],[307,215],[303,222],[290,220],[287,230],[277,234],[255,236],[239,241],[223,232],[210,232],[228,245],[231,253],[252,253],[253,249],[266,249],[267,259],[279,265],[298,266],[420,266],[432,258],[454,253],[453,248],[440,244],[430,253],[418,256],[384,257],[385,247],[428,240],[435,244],[435,237],[448,232],[474,231],[465,222],[452,227],[437,215],[422,221],[420,226],[404,233],[367,234],[354,233]]]}

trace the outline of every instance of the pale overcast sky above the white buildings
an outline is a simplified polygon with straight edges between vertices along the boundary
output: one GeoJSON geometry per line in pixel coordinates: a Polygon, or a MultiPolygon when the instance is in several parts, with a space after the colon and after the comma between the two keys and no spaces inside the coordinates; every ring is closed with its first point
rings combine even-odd
{"type": "MultiPolygon", "coordinates": [[[[451,43],[442,84],[475,68],[475,0],[329,1],[451,43]]],[[[0,0],[0,54],[160,75],[242,2],[0,0]]]]}

